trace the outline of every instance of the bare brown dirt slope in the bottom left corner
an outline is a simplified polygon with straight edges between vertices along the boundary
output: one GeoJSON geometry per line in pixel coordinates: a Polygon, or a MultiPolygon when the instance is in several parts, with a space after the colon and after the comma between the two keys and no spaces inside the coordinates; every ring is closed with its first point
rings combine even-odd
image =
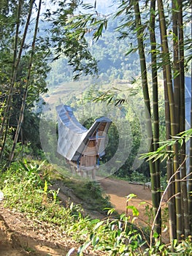
{"type": "Polygon", "coordinates": [[[64,256],[70,248],[78,248],[71,238],[62,236],[52,225],[28,219],[25,214],[4,208],[2,203],[0,214],[2,256],[64,256]]]}

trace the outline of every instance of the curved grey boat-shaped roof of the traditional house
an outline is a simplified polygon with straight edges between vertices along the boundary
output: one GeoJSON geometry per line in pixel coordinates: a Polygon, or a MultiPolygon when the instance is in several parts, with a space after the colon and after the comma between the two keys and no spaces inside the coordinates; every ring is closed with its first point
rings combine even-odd
{"type": "Polygon", "coordinates": [[[85,151],[90,140],[99,140],[97,154],[99,154],[99,156],[105,154],[104,139],[112,122],[110,118],[98,118],[90,129],[86,129],[79,121],[77,121],[72,108],[68,105],[59,105],[56,107],[56,110],[58,113],[59,154],[70,161],[77,161],[85,151]]]}

